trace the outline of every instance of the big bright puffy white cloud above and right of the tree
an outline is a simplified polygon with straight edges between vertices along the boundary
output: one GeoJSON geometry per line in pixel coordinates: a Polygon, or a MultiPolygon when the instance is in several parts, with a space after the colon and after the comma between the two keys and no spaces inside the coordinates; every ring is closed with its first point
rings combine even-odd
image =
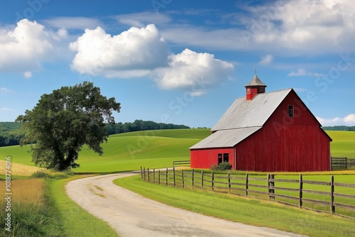
{"type": "Polygon", "coordinates": [[[155,67],[165,66],[168,45],[154,25],[132,27],[119,35],[102,28],[86,29],[70,49],[77,51],[72,69],[82,74],[105,77],[142,77],[155,67]]]}

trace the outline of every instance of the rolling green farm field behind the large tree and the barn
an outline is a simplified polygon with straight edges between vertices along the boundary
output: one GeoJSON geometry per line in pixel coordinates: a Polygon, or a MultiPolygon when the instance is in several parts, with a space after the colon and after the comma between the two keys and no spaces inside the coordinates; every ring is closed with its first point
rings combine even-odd
{"type": "MultiPolygon", "coordinates": [[[[333,139],[333,156],[355,158],[355,132],[327,131],[333,139]]],[[[138,131],[109,136],[102,146],[104,155],[99,156],[83,147],[77,173],[110,173],[125,170],[139,170],[141,166],[159,168],[172,166],[173,160],[189,160],[188,148],[209,136],[209,129],[174,129],[160,131],[138,131]]],[[[18,145],[0,148],[4,159],[11,155],[12,162],[34,166],[29,146],[18,145]]]]}

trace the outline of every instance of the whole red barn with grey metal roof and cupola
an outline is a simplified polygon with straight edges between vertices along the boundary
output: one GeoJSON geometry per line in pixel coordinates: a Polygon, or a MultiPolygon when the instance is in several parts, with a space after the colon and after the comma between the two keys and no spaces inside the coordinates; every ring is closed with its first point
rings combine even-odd
{"type": "Polygon", "coordinates": [[[192,168],[228,161],[233,170],[330,170],[330,138],[293,89],[265,93],[254,75],[208,136],[190,148],[192,168]]]}

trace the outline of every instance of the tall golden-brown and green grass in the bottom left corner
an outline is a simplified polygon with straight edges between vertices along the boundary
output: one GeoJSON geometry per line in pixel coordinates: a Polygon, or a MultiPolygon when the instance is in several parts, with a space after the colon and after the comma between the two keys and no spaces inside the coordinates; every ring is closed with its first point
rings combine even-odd
{"type": "MultiPolygon", "coordinates": [[[[4,181],[0,181],[0,189],[6,193],[4,181]]],[[[11,180],[11,192],[11,210],[5,211],[6,199],[0,199],[1,225],[10,213],[11,232],[3,227],[0,236],[62,236],[60,221],[45,198],[43,179],[11,180]]]]}

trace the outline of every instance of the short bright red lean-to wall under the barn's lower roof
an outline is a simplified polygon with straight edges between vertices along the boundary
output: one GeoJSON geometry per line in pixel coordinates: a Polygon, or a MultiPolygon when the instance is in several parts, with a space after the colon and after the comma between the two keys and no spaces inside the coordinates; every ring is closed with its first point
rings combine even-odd
{"type": "Polygon", "coordinates": [[[214,148],[191,150],[191,167],[209,169],[212,165],[218,164],[218,154],[228,153],[229,162],[234,169],[234,148],[214,148]]]}

